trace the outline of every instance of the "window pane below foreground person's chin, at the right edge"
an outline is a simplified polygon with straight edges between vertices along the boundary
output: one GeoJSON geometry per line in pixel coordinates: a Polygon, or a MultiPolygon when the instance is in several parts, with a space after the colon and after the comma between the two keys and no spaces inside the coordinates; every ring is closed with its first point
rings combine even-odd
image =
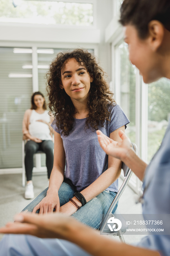
{"type": "Polygon", "coordinates": [[[161,145],[170,117],[170,81],[148,84],[148,162],[161,145]]]}

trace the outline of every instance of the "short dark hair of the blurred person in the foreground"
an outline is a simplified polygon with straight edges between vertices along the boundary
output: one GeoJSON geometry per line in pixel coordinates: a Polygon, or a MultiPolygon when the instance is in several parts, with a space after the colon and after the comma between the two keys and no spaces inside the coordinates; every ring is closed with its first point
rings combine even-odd
{"type": "Polygon", "coordinates": [[[159,20],[170,30],[170,0],[124,0],[120,7],[121,25],[133,25],[140,38],[148,35],[148,24],[159,20]]]}

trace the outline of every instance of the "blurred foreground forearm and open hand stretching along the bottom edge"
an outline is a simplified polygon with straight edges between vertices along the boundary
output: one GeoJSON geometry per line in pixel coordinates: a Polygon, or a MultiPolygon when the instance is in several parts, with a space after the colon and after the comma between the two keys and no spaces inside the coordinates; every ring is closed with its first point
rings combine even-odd
{"type": "Polygon", "coordinates": [[[19,214],[1,233],[30,234],[42,238],[61,238],[77,244],[94,256],[160,256],[157,251],[123,244],[64,214],[19,214]],[[22,223],[21,223],[22,222],[22,223]]]}

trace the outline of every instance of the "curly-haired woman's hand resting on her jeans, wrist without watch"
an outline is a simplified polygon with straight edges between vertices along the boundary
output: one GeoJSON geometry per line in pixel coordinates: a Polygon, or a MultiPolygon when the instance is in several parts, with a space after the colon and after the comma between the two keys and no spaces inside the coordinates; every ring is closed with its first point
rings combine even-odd
{"type": "Polygon", "coordinates": [[[58,194],[50,193],[50,195],[47,195],[46,197],[44,197],[42,201],[34,207],[34,210],[32,211],[32,213],[36,213],[38,209],[39,209],[39,214],[50,213],[50,212],[53,212],[54,209],[56,212],[59,212],[59,207],[60,207],[60,203],[59,203],[58,194]]]}

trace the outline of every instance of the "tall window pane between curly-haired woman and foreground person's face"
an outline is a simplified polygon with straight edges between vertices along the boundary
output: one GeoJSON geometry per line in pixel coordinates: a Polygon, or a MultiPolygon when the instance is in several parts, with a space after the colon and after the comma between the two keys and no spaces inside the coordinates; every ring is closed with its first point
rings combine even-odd
{"type": "MultiPolygon", "coordinates": [[[[136,76],[137,70],[129,61],[128,47],[125,42],[120,41],[115,45],[115,96],[116,102],[121,106],[130,120],[125,133],[132,142],[136,142],[136,76]]],[[[139,147],[139,146],[138,146],[139,147]]],[[[141,182],[132,174],[129,182],[130,187],[138,193],[141,182]]]]}

